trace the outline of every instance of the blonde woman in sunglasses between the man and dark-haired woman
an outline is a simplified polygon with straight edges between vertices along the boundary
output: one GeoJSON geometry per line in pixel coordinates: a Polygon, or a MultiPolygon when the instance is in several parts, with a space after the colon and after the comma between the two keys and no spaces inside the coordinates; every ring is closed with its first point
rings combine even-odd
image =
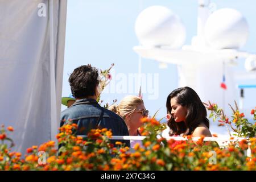
{"type": "MultiPolygon", "coordinates": [[[[126,96],[119,105],[112,105],[109,110],[117,113],[125,121],[130,136],[140,136],[138,128],[142,126],[141,118],[148,117],[148,110],[144,106],[144,102],[137,96],[126,96]]],[[[131,147],[135,143],[141,143],[141,140],[135,142],[131,140],[131,147]]]]}

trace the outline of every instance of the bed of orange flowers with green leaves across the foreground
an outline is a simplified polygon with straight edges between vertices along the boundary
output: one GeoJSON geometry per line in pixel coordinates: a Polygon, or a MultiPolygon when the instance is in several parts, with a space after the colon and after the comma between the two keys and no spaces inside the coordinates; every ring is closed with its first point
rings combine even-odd
{"type": "Polygon", "coordinates": [[[94,129],[88,138],[76,137],[77,125],[68,124],[60,128],[55,142],[27,149],[22,158],[19,152],[10,152],[6,142],[12,127],[1,129],[0,169],[1,170],[255,170],[256,138],[230,143],[228,148],[220,148],[215,142],[204,142],[201,137],[193,142],[176,142],[157,138],[156,128],[160,123],[155,119],[144,119],[142,135],[147,136],[137,144],[134,151],[116,142],[110,143],[112,133],[106,129],[94,129]],[[250,142],[250,146],[248,146],[250,142]],[[251,157],[245,155],[250,147],[251,157]]]}

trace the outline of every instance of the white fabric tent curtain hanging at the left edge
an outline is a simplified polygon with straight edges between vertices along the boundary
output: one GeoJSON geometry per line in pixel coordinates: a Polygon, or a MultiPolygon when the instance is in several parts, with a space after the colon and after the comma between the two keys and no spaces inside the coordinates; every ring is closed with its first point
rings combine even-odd
{"type": "Polygon", "coordinates": [[[66,13],[67,0],[0,1],[0,124],[15,151],[58,132],[66,13]]]}

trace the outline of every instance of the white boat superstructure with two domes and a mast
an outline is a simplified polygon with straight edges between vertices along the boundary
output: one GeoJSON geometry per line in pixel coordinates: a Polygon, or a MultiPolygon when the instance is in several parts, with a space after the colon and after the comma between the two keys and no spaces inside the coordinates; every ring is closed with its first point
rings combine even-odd
{"type": "MultiPolygon", "coordinates": [[[[209,0],[199,0],[197,35],[184,45],[185,28],[180,18],[167,7],[151,6],[143,10],[135,23],[141,46],[133,49],[141,57],[176,64],[179,87],[195,89],[203,102],[229,107],[236,99],[235,80],[246,75],[256,79],[256,55],[240,51],[249,35],[243,15],[234,9],[209,10],[209,0]],[[246,71],[234,72],[237,61],[246,59],[246,71]]],[[[242,106],[242,104],[240,104],[242,106]]]]}

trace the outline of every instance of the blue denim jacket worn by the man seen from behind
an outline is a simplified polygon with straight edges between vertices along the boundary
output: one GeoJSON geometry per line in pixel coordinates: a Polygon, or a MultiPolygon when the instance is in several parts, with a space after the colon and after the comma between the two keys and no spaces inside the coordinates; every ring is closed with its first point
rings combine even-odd
{"type": "MultiPolygon", "coordinates": [[[[60,119],[60,126],[63,126],[68,121],[76,123],[78,126],[77,135],[86,135],[90,129],[96,129],[97,121],[98,127],[111,129],[113,135],[129,135],[126,123],[119,115],[101,107],[96,100],[91,98],[77,100],[71,107],[61,112],[60,119]],[[98,121],[101,114],[102,117],[98,121]]],[[[122,140],[122,142],[125,142],[126,146],[130,147],[130,140],[122,140]]]]}

